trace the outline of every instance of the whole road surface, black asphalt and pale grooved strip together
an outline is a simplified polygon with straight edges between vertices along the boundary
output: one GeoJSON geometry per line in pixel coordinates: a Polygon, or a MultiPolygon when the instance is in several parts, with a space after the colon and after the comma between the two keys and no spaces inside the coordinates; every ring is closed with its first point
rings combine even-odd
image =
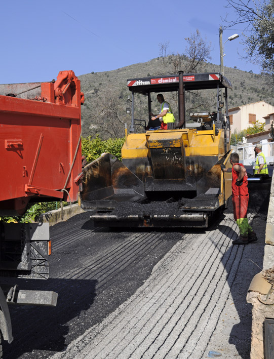
{"type": "Polygon", "coordinates": [[[246,294],[262,267],[265,219],[250,215],[259,241],[247,246],[231,244],[231,213],[206,231],[110,231],[89,213],[51,227],[50,279],[20,288],[57,292],[57,307],[10,307],[4,357],[249,358],[246,294]]]}

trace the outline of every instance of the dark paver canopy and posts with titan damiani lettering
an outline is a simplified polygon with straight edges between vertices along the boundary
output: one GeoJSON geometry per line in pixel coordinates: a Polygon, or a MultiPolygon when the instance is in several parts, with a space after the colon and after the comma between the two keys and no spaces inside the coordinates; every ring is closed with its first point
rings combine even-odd
{"type": "MultiPolygon", "coordinates": [[[[131,127],[130,132],[135,132],[134,125],[138,124],[138,120],[134,118],[134,94],[141,94],[148,97],[148,112],[151,112],[151,93],[166,93],[166,92],[178,92],[179,94],[179,123],[175,128],[182,128],[185,126],[185,110],[184,110],[184,94],[185,91],[195,90],[217,90],[217,116],[214,118],[216,121],[222,120],[221,107],[223,101],[221,98],[221,89],[225,90],[225,102],[226,102],[226,116],[228,118],[228,106],[227,106],[227,89],[232,89],[230,81],[221,75],[219,72],[209,73],[190,73],[183,74],[180,71],[178,75],[170,76],[153,76],[142,78],[131,78],[127,80],[127,86],[132,92],[131,99],[131,127]],[[181,88],[180,88],[181,83],[181,88]]],[[[191,116],[192,117],[192,116],[191,116]]],[[[149,119],[151,117],[149,116],[149,119]]],[[[193,119],[193,118],[192,118],[193,119]]],[[[213,120],[213,121],[214,121],[213,120]]],[[[140,120],[139,120],[140,121],[140,120]]],[[[226,125],[229,127],[229,123],[226,125]]]]}

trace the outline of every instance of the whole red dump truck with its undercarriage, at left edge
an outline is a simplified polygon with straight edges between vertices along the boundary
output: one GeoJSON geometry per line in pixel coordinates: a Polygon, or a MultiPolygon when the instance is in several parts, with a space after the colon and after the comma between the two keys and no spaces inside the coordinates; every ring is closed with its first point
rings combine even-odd
{"type": "MultiPolygon", "coordinates": [[[[0,85],[0,217],[23,215],[29,203],[77,201],[82,103],[73,71],[60,71],[49,83],[0,85]]],[[[0,232],[0,330],[10,343],[8,304],[55,306],[57,293],[22,290],[15,279],[7,281],[49,277],[49,224],[0,220],[0,232]]]]}

